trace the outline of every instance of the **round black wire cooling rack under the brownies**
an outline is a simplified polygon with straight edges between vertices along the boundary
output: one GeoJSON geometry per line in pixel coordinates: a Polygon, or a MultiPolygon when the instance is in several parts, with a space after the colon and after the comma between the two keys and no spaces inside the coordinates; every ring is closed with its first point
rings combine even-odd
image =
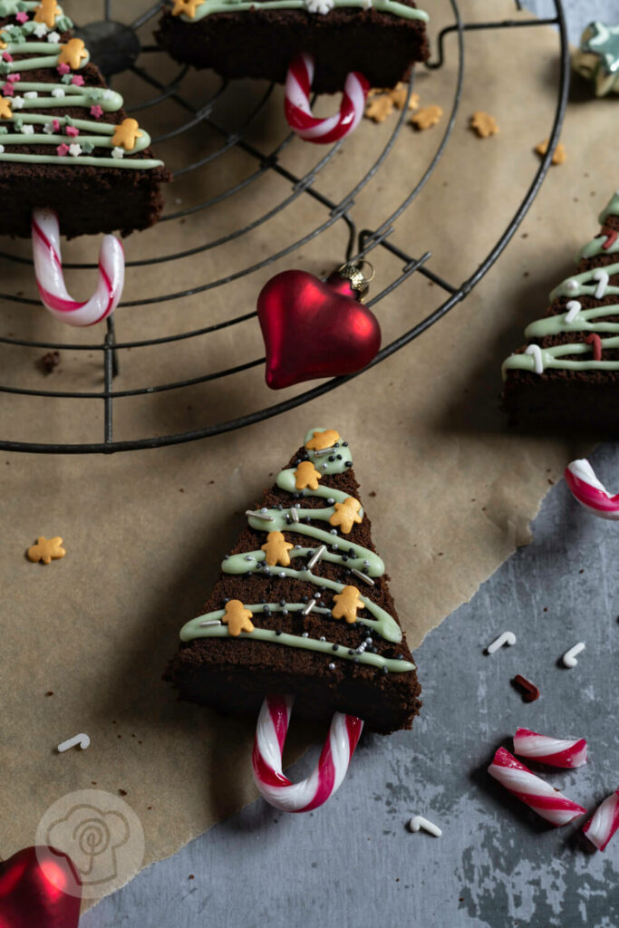
{"type": "MultiPolygon", "coordinates": [[[[225,237],[207,241],[195,248],[186,251],[159,254],[156,252],[158,242],[156,230],[154,233],[152,231],[147,233],[147,235],[149,235],[150,239],[152,240],[152,248],[154,253],[147,258],[136,261],[128,261],[127,268],[129,274],[140,273],[136,271],[135,268],[141,267],[148,272],[148,265],[161,263],[168,263],[171,265],[172,263],[178,262],[189,256],[194,256],[194,260],[198,261],[200,260],[200,255],[203,255],[206,251],[210,251],[213,249],[213,247],[224,244],[226,241],[231,241],[233,239],[242,239],[243,236],[246,236],[248,233],[254,231],[256,227],[268,223],[269,219],[273,218],[285,207],[290,206],[290,203],[294,202],[295,200],[311,198],[324,210],[324,219],[318,226],[316,226],[316,228],[314,228],[308,234],[304,235],[303,238],[295,240],[284,249],[268,254],[262,261],[257,264],[252,264],[249,267],[230,268],[225,277],[206,280],[199,286],[191,287],[190,290],[174,290],[169,293],[161,293],[154,299],[149,298],[145,300],[125,302],[121,303],[121,306],[152,305],[154,303],[165,303],[167,301],[188,296],[191,296],[192,298],[198,298],[200,294],[207,290],[223,288],[232,281],[239,279],[239,277],[244,277],[245,275],[259,271],[266,265],[276,262],[277,260],[285,257],[293,251],[299,250],[301,247],[303,247],[304,244],[324,233],[327,229],[329,229],[330,226],[334,226],[335,224],[339,223],[345,224],[347,229],[347,260],[360,260],[362,258],[366,258],[368,254],[375,249],[384,249],[390,252],[400,262],[402,262],[400,273],[396,277],[393,277],[389,284],[368,302],[369,306],[374,306],[376,303],[380,303],[380,301],[388,297],[389,294],[393,292],[393,290],[405,284],[406,280],[413,274],[419,274],[423,277],[426,277],[428,280],[432,281],[434,285],[440,287],[445,292],[445,300],[443,303],[441,303],[437,308],[429,313],[429,315],[425,316],[425,318],[419,321],[419,323],[417,323],[413,328],[403,332],[393,342],[385,345],[380,350],[379,354],[376,355],[369,367],[374,367],[375,365],[380,364],[380,362],[385,358],[404,348],[414,339],[419,338],[419,336],[424,331],[429,329],[458,303],[464,300],[465,297],[471,292],[473,287],[475,287],[481,278],[484,277],[484,274],[488,268],[494,264],[497,257],[509,243],[509,239],[514,235],[516,229],[522,222],[522,218],[535,199],[535,195],[541,186],[545,174],[548,171],[552,152],[561,131],[561,122],[567,102],[569,84],[569,50],[561,0],[553,0],[556,15],[552,18],[527,20],[508,19],[496,22],[474,23],[466,23],[462,21],[457,0],[449,0],[449,2],[453,10],[453,22],[445,29],[443,29],[443,31],[440,32],[440,34],[436,37],[434,43],[435,51],[431,61],[426,65],[426,67],[431,70],[439,69],[444,66],[446,59],[445,56],[447,54],[445,51],[445,38],[450,33],[456,33],[456,47],[454,51],[458,56],[457,79],[455,83],[451,111],[446,122],[445,133],[442,136],[440,144],[435,150],[430,163],[422,170],[419,181],[414,185],[414,187],[406,192],[405,199],[402,200],[399,206],[390,215],[384,218],[380,226],[372,229],[362,230],[356,229],[353,218],[351,217],[352,204],[355,200],[355,197],[375,177],[377,172],[380,171],[384,162],[388,158],[393,145],[395,144],[397,136],[400,134],[406,121],[406,106],[401,111],[398,122],[393,129],[393,134],[388,139],[384,148],[381,150],[379,157],[371,164],[366,174],[356,182],[355,187],[345,192],[338,201],[335,201],[321,192],[319,184],[320,173],[324,170],[326,165],[329,163],[329,161],[331,161],[335,154],[338,153],[342,145],[345,146],[345,140],[330,148],[326,153],[318,151],[317,154],[321,157],[317,159],[316,163],[309,171],[305,171],[303,174],[295,174],[290,170],[289,167],[284,166],[281,161],[282,152],[284,149],[288,148],[293,136],[288,135],[282,142],[278,144],[277,148],[271,151],[260,150],[259,148],[256,148],[256,146],[252,144],[251,141],[248,140],[247,136],[249,127],[251,126],[252,122],[255,121],[260,111],[263,110],[263,108],[267,105],[267,101],[273,91],[273,86],[269,87],[265,91],[264,95],[259,99],[257,106],[251,110],[249,116],[244,115],[242,117],[242,123],[237,125],[233,131],[230,131],[229,129],[222,127],[219,122],[213,119],[213,105],[220,97],[222,97],[222,95],[225,94],[226,83],[221,84],[207,101],[200,103],[200,106],[196,106],[194,103],[190,102],[183,92],[184,80],[187,77],[187,68],[181,67],[180,70],[175,74],[174,79],[169,83],[161,83],[158,77],[157,67],[158,58],[160,58],[161,54],[163,54],[161,49],[159,49],[157,45],[146,45],[140,49],[139,42],[135,38],[135,33],[138,29],[142,28],[150,20],[153,20],[160,14],[161,8],[163,6],[161,3],[149,7],[138,19],[135,19],[135,21],[131,24],[122,25],[112,19],[110,0],[105,0],[103,4],[104,19],[98,20],[92,26],[80,23],[79,25],[82,27],[82,33],[84,34],[84,37],[86,37],[89,41],[91,50],[94,50],[94,58],[103,68],[103,70],[107,71],[108,74],[111,75],[115,71],[129,69],[130,71],[133,71],[136,79],[139,79],[141,82],[144,82],[144,84],[148,85],[149,93],[151,96],[148,97],[148,99],[142,101],[137,108],[134,108],[133,110],[128,108],[129,111],[135,112],[136,110],[152,110],[152,108],[158,108],[165,105],[172,106],[175,109],[180,110],[183,114],[183,122],[174,128],[173,131],[168,132],[166,135],[161,135],[159,138],[153,139],[155,150],[157,150],[157,146],[159,144],[169,141],[171,138],[181,138],[181,136],[187,133],[191,133],[192,130],[200,125],[200,123],[209,126],[210,129],[212,129],[214,133],[220,137],[220,145],[218,148],[216,148],[216,150],[210,152],[206,156],[199,158],[196,161],[183,164],[174,173],[175,178],[190,174],[191,172],[200,168],[206,161],[213,161],[215,159],[225,157],[226,153],[233,148],[238,148],[241,150],[245,156],[249,156],[249,158],[255,163],[255,170],[242,181],[239,181],[238,183],[228,187],[224,192],[218,193],[217,196],[211,200],[203,200],[201,202],[191,203],[190,206],[181,210],[172,212],[168,210],[168,212],[163,215],[161,222],[181,222],[191,213],[208,213],[209,208],[213,207],[215,203],[221,203],[222,200],[226,200],[227,198],[232,197],[234,194],[239,193],[239,191],[243,188],[251,187],[252,185],[259,185],[266,174],[275,173],[288,186],[290,186],[290,192],[288,195],[284,199],[274,202],[272,207],[258,219],[252,221],[246,226],[236,228],[232,232],[227,232],[225,237]],[[467,277],[460,283],[453,283],[449,280],[446,280],[445,277],[441,277],[440,275],[434,273],[432,269],[427,266],[426,263],[430,258],[429,252],[426,252],[419,258],[416,258],[408,254],[403,248],[399,247],[393,240],[393,224],[398,219],[398,217],[406,211],[412,201],[418,196],[422,187],[424,187],[425,184],[431,179],[432,173],[434,172],[436,165],[443,156],[445,148],[449,142],[458,114],[458,106],[462,90],[462,81],[464,76],[463,52],[465,33],[476,30],[530,29],[541,25],[554,25],[557,27],[558,39],[561,46],[561,72],[557,87],[556,109],[554,111],[552,128],[549,133],[547,154],[540,162],[539,167],[535,172],[535,176],[532,179],[531,185],[525,191],[522,202],[511,218],[509,225],[497,239],[496,244],[486,255],[484,261],[482,261],[482,263],[475,268],[470,277],[467,277]]],[[[88,5],[89,12],[94,6],[94,4],[88,5]]],[[[520,3],[518,0],[516,0],[516,7],[520,8],[520,3]]],[[[450,49],[451,47],[452,45],[449,44],[450,49]]],[[[408,95],[410,95],[412,91],[414,80],[415,76],[413,74],[408,86],[408,95]]],[[[300,145],[303,143],[296,142],[295,144],[300,145]]],[[[0,258],[2,258],[5,262],[31,264],[28,259],[13,253],[8,253],[6,251],[0,251],[0,258]]],[[[65,264],[65,266],[74,268],[93,268],[97,265],[65,264]]],[[[170,274],[167,279],[174,280],[174,274],[170,274]]],[[[0,293],[0,299],[8,303],[26,303],[31,305],[38,304],[36,300],[29,299],[21,295],[0,293]]],[[[217,330],[238,326],[240,323],[251,318],[251,316],[255,316],[255,313],[248,312],[244,315],[230,317],[213,325],[202,327],[200,329],[193,329],[191,331],[185,331],[180,334],[174,333],[173,335],[162,338],[144,339],[141,341],[132,342],[123,341],[122,333],[117,331],[117,329],[121,329],[122,316],[119,316],[119,321],[117,324],[115,324],[113,316],[108,319],[107,331],[105,333],[103,342],[88,342],[77,344],[72,342],[39,342],[14,338],[10,335],[7,335],[6,337],[0,337],[0,356],[2,352],[15,350],[18,347],[43,349],[45,351],[74,351],[77,353],[86,352],[90,357],[94,355],[95,357],[99,358],[103,374],[101,389],[95,391],[27,389],[25,387],[19,387],[15,384],[11,385],[10,383],[0,382],[0,392],[7,394],[4,401],[5,403],[11,401],[9,397],[12,397],[15,402],[17,402],[17,397],[20,397],[20,402],[26,404],[54,404],[59,400],[72,399],[94,403],[98,408],[100,408],[101,404],[104,407],[104,416],[102,417],[103,435],[99,436],[100,440],[98,441],[89,443],[55,444],[44,442],[9,441],[0,437],[0,449],[7,451],[27,451],[45,454],[84,454],[92,452],[112,453],[116,451],[130,451],[139,448],[155,448],[162,445],[174,445],[183,442],[190,442],[200,438],[207,438],[221,432],[229,432],[231,430],[250,425],[251,423],[260,421],[262,419],[277,416],[278,414],[285,412],[295,406],[302,406],[304,403],[315,399],[317,396],[321,396],[323,393],[328,393],[329,391],[336,389],[342,383],[346,382],[347,380],[351,380],[352,377],[359,376],[358,374],[354,374],[349,377],[333,378],[331,380],[322,382],[316,387],[306,390],[303,393],[288,396],[281,402],[275,403],[271,406],[264,406],[263,408],[256,409],[251,413],[239,416],[238,418],[209,423],[203,427],[193,429],[191,431],[177,432],[174,434],[152,435],[147,438],[136,438],[135,440],[117,441],[114,439],[114,409],[117,404],[122,403],[123,400],[126,400],[129,397],[153,395],[169,391],[180,392],[187,390],[187,388],[194,387],[197,384],[203,384],[212,380],[239,378],[242,377],[243,373],[249,370],[251,367],[258,367],[264,364],[264,358],[254,358],[251,360],[243,361],[235,367],[227,367],[226,369],[218,370],[216,372],[205,372],[200,374],[198,377],[187,380],[174,380],[173,382],[163,383],[148,383],[147,386],[139,386],[133,389],[123,390],[122,385],[117,386],[119,383],[122,383],[123,378],[122,376],[117,375],[119,370],[122,372],[124,369],[126,369],[125,366],[130,366],[132,364],[132,359],[135,358],[135,352],[148,352],[149,350],[156,348],[156,346],[171,344],[172,342],[184,342],[185,340],[194,339],[198,336],[207,336],[217,330]],[[133,354],[130,354],[130,352],[133,352],[133,354]]],[[[6,365],[2,365],[0,367],[0,371],[2,370],[6,371],[6,365]]],[[[363,374],[363,371],[360,373],[363,374]]],[[[3,374],[1,372],[0,380],[3,380],[3,374]]],[[[26,417],[28,416],[27,411],[25,412],[25,415],[26,417]]]]}

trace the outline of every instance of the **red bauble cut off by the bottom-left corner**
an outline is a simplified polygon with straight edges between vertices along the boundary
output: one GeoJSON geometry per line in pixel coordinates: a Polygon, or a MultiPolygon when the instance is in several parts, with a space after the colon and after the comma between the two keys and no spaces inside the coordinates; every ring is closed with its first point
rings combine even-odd
{"type": "Polygon", "coordinates": [[[0,863],[0,928],[77,928],[79,887],[66,854],[24,847],[0,863]]]}

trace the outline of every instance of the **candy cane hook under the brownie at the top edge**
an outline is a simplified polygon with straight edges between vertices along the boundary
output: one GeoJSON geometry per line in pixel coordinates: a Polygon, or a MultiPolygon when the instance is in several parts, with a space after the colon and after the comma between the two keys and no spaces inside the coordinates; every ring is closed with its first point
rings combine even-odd
{"type": "Polygon", "coordinates": [[[351,71],[344,82],[340,112],[327,119],[317,119],[310,106],[313,80],[314,58],[304,53],[293,58],[286,75],[284,112],[292,132],[306,142],[328,145],[354,132],[361,122],[369,83],[359,71],[351,71]]]}

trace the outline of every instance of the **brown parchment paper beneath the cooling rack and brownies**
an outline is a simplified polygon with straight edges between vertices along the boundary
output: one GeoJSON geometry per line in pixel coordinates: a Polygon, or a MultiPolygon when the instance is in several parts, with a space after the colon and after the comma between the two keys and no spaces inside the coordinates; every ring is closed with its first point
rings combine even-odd
{"type": "MultiPolygon", "coordinates": [[[[447,21],[448,8],[443,2],[432,6],[434,35],[447,21]]],[[[514,15],[508,0],[469,0],[462,7],[469,20],[514,15]]],[[[440,103],[445,112],[455,80],[455,43],[454,36],[446,40],[444,69],[419,71],[422,103],[440,103]]],[[[548,28],[467,36],[464,97],[452,141],[393,232],[394,243],[411,254],[431,250],[429,266],[454,284],[483,259],[533,177],[533,148],[548,135],[554,109],[558,47],[548,28]],[[487,140],[473,135],[468,120],[474,110],[495,116],[500,135],[487,140]]],[[[174,69],[162,58],[163,80],[166,69],[174,69]]],[[[212,80],[204,74],[193,79],[196,99],[212,80]]],[[[128,84],[127,97],[148,93],[136,80],[128,84]]],[[[263,92],[257,84],[239,84],[234,91],[239,107],[263,92]]],[[[283,135],[279,91],[274,97],[250,133],[251,144],[265,151],[283,135]]],[[[321,106],[328,110],[333,102],[321,106]]],[[[563,134],[568,161],[550,170],[495,268],[418,342],[336,393],[196,444],[114,457],[0,457],[3,857],[32,844],[37,822],[54,800],[92,784],[126,792],[146,832],[145,864],[172,854],[255,797],[252,723],[177,704],[160,677],[180,626],[206,599],[218,561],[243,524],[243,510],[259,498],[310,425],[333,426],[352,446],[375,541],[413,646],[470,599],[517,545],[528,542],[529,522],[549,485],[584,449],[569,436],[545,441],[506,431],[498,409],[500,362],[522,342],[524,324],[543,312],[548,290],[570,272],[575,251],[596,231],[597,213],[617,183],[615,151],[608,144],[615,108],[616,102],[604,100],[571,106],[563,134]],[[27,561],[25,549],[37,535],[62,535],[67,556],[46,567],[27,561]],[[54,695],[45,696],[48,691],[54,695]],[[54,754],[59,741],[79,731],[90,735],[87,751],[54,754]]],[[[215,115],[226,121],[226,111],[215,115]]],[[[173,104],[140,114],[155,133],[185,118],[173,104]],[[149,122],[153,114],[161,125],[149,122]]],[[[353,187],[385,145],[393,119],[379,126],[364,121],[319,174],[316,188],[338,200],[353,187]]],[[[405,129],[382,170],[355,198],[359,227],[380,225],[403,199],[444,127],[445,120],[421,134],[405,129]]],[[[162,152],[174,167],[220,144],[199,127],[162,152]]],[[[295,141],[281,161],[303,174],[316,161],[316,149],[295,141]]],[[[179,179],[168,191],[168,212],[210,197],[252,170],[255,162],[234,149],[179,179]]],[[[224,237],[264,213],[275,198],[289,195],[287,181],[266,176],[182,224],[164,223],[129,238],[128,259],[224,237]]],[[[129,268],[125,299],[184,290],[259,262],[324,215],[302,196],[225,246],[170,264],[129,268]]],[[[2,245],[24,255],[29,251],[27,243],[2,245]]],[[[187,331],[248,312],[276,271],[300,266],[324,272],[341,260],[344,248],[345,230],[336,222],[289,258],[226,287],[154,307],[123,308],[117,313],[119,339],[187,331]]],[[[96,249],[97,240],[88,238],[69,243],[65,252],[69,260],[94,261],[96,249]]],[[[376,293],[399,264],[382,250],[371,260],[376,293]]],[[[5,263],[3,274],[6,290],[34,293],[28,268],[5,263]]],[[[70,289],[88,292],[92,281],[72,272],[70,289]]],[[[379,304],[385,342],[443,298],[432,282],[414,275],[379,304]]],[[[92,329],[62,329],[43,309],[13,304],[0,307],[0,329],[41,341],[69,336],[84,344],[101,338],[92,329]]],[[[250,320],[206,338],[124,351],[115,388],[198,376],[261,353],[258,327],[250,320]]],[[[100,386],[95,353],[63,352],[60,367],[45,380],[36,365],[40,354],[3,347],[3,380],[58,390],[100,386]]],[[[187,391],[119,400],[115,435],[185,431],[268,402],[274,394],[264,387],[258,367],[187,391]]],[[[102,413],[93,400],[33,403],[3,394],[0,428],[3,437],[14,439],[100,441],[102,413]]],[[[422,682],[436,672],[419,667],[422,682]]],[[[299,731],[290,759],[303,739],[316,738],[309,729],[299,731]]],[[[411,745],[414,750],[414,737],[411,745]]]]}

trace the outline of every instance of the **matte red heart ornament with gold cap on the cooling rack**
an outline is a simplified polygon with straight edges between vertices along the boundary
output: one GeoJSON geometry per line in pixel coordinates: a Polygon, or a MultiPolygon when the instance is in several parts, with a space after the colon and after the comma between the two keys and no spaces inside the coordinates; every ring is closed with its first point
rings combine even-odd
{"type": "Polygon", "coordinates": [[[360,296],[337,271],[326,282],[305,271],[271,277],[258,297],[268,386],[279,390],[366,367],[380,348],[380,325],[360,296]]]}

